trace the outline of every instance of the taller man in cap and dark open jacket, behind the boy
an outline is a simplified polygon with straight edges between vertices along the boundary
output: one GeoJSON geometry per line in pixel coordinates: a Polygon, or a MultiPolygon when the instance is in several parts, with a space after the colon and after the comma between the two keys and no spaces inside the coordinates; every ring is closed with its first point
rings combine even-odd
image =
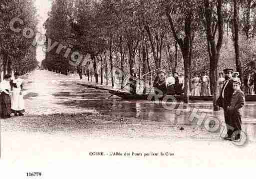
{"type": "Polygon", "coordinates": [[[227,137],[224,139],[231,140],[233,131],[229,129],[230,126],[232,126],[231,120],[228,115],[228,108],[231,106],[231,99],[232,94],[234,93],[233,89],[233,69],[226,68],[223,70],[225,73],[225,83],[222,87],[222,91],[220,94],[220,97],[217,100],[217,104],[224,109],[224,117],[225,117],[225,123],[227,125],[227,137]]]}

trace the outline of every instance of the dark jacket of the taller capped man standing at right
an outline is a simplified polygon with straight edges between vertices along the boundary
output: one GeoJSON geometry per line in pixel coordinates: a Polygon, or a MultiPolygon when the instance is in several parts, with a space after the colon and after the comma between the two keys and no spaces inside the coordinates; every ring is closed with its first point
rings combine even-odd
{"type": "Polygon", "coordinates": [[[234,93],[234,89],[233,89],[233,80],[229,79],[227,81],[225,81],[223,87],[222,87],[222,92],[220,94],[219,99],[217,100],[217,104],[222,107],[223,109],[227,109],[228,106],[231,105],[231,100],[232,100],[232,95],[234,93]],[[226,83],[229,82],[226,86],[226,83]],[[226,86],[225,90],[224,87],[226,86]],[[224,98],[222,96],[224,90],[224,98]]]}

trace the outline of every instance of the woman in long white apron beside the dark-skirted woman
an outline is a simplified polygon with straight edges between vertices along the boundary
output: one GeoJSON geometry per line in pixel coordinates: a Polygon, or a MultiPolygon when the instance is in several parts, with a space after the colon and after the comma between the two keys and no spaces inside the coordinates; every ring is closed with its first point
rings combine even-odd
{"type": "Polygon", "coordinates": [[[11,96],[11,111],[14,116],[23,116],[24,110],[24,99],[23,99],[23,80],[19,78],[17,72],[14,73],[14,79],[10,81],[12,89],[11,96]]]}

